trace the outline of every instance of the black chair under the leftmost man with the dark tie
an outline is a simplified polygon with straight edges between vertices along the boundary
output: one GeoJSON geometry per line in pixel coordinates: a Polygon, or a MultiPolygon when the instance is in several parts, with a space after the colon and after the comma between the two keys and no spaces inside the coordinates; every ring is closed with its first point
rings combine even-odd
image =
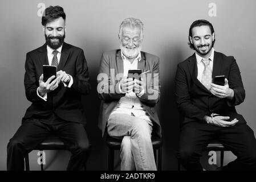
{"type": "MultiPolygon", "coordinates": [[[[38,146],[34,148],[34,150],[68,150],[68,147],[55,135],[50,135],[46,139],[43,140],[38,146]]],[[[40,153],[42,155],[42,152],[40,153]]],[[[43,171],[43,163],[40,164],[41,171],[43,171]]],[[[29,171],[29,154],[25,156],[25,167],[26,171],[29,171]]],[[[85,165],[86,169],[86,165],[85,165]]]]}

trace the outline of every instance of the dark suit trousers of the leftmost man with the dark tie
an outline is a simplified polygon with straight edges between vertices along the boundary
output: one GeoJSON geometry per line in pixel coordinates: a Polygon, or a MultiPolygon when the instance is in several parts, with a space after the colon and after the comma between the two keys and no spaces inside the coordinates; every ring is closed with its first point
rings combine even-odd
{"type": "Polygon", "coordinates": [[[81,123],[50,118],[27,119],[7,145],[7,170],[24,170],[24,158],[48,135],[55,134],[72,155],[67,170],[83,170],[90,155],[90,143],[81,123]]]}

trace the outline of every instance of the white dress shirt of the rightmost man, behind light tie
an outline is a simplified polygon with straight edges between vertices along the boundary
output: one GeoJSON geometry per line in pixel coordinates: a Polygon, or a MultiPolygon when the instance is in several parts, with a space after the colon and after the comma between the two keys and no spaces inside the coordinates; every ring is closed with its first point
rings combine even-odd
{"type": "MultiPolygon", "coordinates": [[[[209,57],[209,60],[210,60],[209,66],[210,66],[210,69],[212,69],[212,72],[213,72],[213,58],[214,58],[214,48],[212,48],[212,53],[209,57]]],[[[198,53],[196,52],[196,59],[197,59],[197,80],[202,82],[202,73],[204,72],[204,69],[205,69],[205,65],[204,63],[202,63],[202,60],[204,60],[204,58],[199,56],[198,53]]]]}

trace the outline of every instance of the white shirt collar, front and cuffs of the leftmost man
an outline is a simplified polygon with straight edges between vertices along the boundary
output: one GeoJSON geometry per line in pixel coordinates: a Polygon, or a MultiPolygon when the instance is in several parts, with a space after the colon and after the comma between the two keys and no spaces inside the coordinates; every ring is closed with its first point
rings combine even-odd
{"type": "MultiPolygon", "coordinates": [[[[52,49],[52,48],[49,47],[49,46],[47,46],[46,48],[47,48],[48,63],[49,63],[49,65],[51,65],[51,61],[52,61],[52,59],[53,59],[53,57],[54,57],[53,52],[54,52],[55,50],[52,49]]],[[[61,54],[62,54],[62,46],[60,46],[58,49],[56,49],[56,51],[58,51],[58,53],[57,53],[57,60],[58,60],[58,64],[59,64],[60,56],[61,56],[61,54]]],[[[68,75],[68,74],[67,74],[67,75],[68,75]]],[[[63,82],[63,84],[64,84],[65,87],[67,86],[67,87],[70,88],[71,85],[73,84],[73,78],[72,78],[71,75],[68,75],[68,76],[70,76],[70,82],[68,83],[68,85],[67,85],[66,83],[64,83],[64,82],[63,82]]],[[[38,97],[42,98],[42,100],[44,100],[44,101],[47,101],[47,93],[44,94],[43,97],[42,97],[42,96],[40,96],[40,94],[39,94],[39,92],[38,92],[38,89],[36,90],[36,92],[37,92],[38,97]]]]}

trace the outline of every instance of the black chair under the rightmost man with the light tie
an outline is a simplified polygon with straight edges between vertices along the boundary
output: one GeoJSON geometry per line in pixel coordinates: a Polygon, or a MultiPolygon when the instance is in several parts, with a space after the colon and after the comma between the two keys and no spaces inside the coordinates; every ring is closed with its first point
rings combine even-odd
{"type": "MultiPolygon", "coordinates": [[[[206,146],[204,151],[220,151],[221,152],[221,167],[223,167],[224,162],[224,151],[229,151],[227,147],[224,147],[220,142],[217,140],[212,140],[206,146]]],[[[180,159],[178,159],[178,171],[180,171],[180,159]]]]}

